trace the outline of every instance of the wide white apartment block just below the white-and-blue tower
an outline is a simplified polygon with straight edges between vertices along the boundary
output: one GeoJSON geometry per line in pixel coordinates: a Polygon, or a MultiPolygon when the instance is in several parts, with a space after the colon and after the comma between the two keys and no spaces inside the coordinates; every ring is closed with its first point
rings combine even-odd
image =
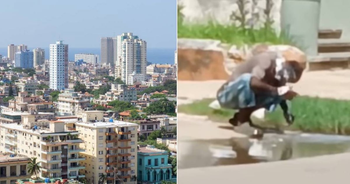
{"type": "Polygon", "coordinates": [[[58,114],[62,116],[76,115],[90,106],[90,97],[74,92],[74,89],[65,89],[58,95],[58,114]]]}

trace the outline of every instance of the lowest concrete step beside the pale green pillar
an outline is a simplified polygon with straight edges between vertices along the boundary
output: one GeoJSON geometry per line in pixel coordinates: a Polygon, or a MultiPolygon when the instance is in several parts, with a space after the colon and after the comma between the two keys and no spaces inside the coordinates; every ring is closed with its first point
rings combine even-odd
{"type": "Polygon", "coordinates": [[[350,52],[320,53],[317,56],[308,57],[308,70],[334,70],[349,69],[350,52]]]}

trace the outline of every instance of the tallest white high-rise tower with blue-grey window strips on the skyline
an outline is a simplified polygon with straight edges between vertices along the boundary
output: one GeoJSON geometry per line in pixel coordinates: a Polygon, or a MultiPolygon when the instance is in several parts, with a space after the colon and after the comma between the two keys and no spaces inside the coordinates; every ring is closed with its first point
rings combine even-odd
{"type": "Polygon", "coordinates": [[[128,81],[130,74],[146,74],[147,43],[132,33],[123,33],[118,38],[118,61],[121,80],[128,81]]]}

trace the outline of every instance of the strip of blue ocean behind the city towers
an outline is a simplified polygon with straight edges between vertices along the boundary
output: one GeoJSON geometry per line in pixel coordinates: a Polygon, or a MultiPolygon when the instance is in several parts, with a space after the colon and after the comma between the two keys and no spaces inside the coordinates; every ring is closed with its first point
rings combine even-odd
{"type": "MultiPolygon", "coordinates": [[[[34,48],[29,48],[33,50],[34,48]]],[[[45,58],[49,59],[49,48],[45,49],[45,58]]],[[[174,64],[174,52],[176,48],[147,48],[147,61],[159,64],[174,64]]],[[[80,53],[91,53],[100,55],[100,48],[69,48],[68,57],[74,61],[74,55],[80,53]]],[[[7,56],[7,48],[0,48],[0,54],[7,56]]]]}

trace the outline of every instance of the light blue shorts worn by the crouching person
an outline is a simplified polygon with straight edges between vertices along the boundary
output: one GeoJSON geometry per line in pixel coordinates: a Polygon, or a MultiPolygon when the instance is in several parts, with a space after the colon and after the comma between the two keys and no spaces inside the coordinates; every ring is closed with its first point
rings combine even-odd
{"type": "Polygon", "coordinates": [[[243,74],[235,81],[225,83],[217,93],[217,100],[221,107],[227,109],[243,109],[249,107],[265,107],[269,111],[275,110],[282,98],[278,95],[255,95],[250,88],[252,75],[243,74]]]}

